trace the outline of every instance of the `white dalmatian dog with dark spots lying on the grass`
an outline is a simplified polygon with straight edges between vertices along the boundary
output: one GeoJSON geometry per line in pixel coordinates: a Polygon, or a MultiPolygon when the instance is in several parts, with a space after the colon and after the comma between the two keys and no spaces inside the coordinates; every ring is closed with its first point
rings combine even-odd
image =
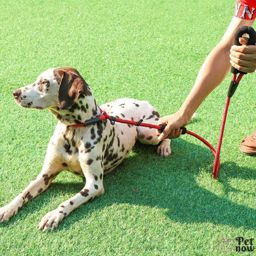
{"type": "MultiPolygon", "coordinates": [[[[159,114],[146,101],[122,98],[98,107],[92,90],[73,68],[52,68],[44,71],[28,86],[14,90],[14,98],[24,108],[49,109],[58,124],[50,139],[46,158],[38,177],[7,206],[0,209],[0,221],[7,222],[25,202],[46,190],[63,170],[86,178],[84,188],[73,198],[48,212],[39,223],[39,230],[57,228],[58,223],[81,204],[104,193],[103,175],[108,174],[128,156],[135,141],[157,145],[156,130],[115,122],[95,122],[73,126],[101,115],[100,109],[117,118],[157,124],[159,114]]],[[[158,154],[171,153],[170,140],[162,140],[158,154]]]]}

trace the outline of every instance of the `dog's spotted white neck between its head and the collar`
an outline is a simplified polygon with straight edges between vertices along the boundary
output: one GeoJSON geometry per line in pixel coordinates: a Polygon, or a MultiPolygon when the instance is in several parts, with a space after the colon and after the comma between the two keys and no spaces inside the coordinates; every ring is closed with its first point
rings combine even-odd
{"type": "Polygon", "coordinates": [[[66,126],[81,124],[89,119],[100,116],[100,108],[95,102],[93,95],[85,97],[81,94],[74,105],[66,110],[60,110],[58,106],[49,108],[49,110],[54,114],[55,118],[66,124],[66,126]]]}

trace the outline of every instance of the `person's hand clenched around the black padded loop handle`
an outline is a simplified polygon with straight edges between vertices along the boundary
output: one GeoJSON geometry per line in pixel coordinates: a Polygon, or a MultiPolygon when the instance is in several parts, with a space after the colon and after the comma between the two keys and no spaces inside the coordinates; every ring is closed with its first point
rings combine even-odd
{"type": "Polygon", "coordinates": [[[239,71],[252,73],[256,70],[256,46],[246,46],[248,38],[239,38],[243,46],[232,46],[230,63],[239,71]]]}

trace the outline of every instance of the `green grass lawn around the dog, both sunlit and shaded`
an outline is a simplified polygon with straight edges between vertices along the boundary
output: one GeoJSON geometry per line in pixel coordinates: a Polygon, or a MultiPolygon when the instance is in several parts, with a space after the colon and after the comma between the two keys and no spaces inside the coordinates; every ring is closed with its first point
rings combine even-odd
{"type": "MultiPolygon", "coordinates": [[[[2,0],[0,207],[39,174],[57,123],[49,111],[20,108],[12,90],[48,68],[72,66],[98,105],[134,97],[149,100],[162,115],[174,113],[222,38],[234,2],[2,0]]],[[[188,126],[214,146],[230,79],[188,126]]],[[[104,196],[42,233],[41,218],[84,186],[74,175],[60,174],[0,225],[0,254],[236,255],[217,244],[220,236],[256,239],[256,161],[238,149],[254,129],[255,74],[248,74],[231,100],[217,180],[212,153],[191,136],[173,140],[166,159],[156,156],[154,146],[137,144],[105,177],[104,196]]]]}

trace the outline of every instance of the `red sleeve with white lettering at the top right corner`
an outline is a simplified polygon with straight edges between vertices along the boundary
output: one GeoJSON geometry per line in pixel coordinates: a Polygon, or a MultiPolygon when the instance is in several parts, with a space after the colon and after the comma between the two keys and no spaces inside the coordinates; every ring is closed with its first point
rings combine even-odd
{"type": "Polygon", "coordinates": [[[256,18],[256,0],[237,1],[234,16],[244,20],[254,20],[256,18]]]}

